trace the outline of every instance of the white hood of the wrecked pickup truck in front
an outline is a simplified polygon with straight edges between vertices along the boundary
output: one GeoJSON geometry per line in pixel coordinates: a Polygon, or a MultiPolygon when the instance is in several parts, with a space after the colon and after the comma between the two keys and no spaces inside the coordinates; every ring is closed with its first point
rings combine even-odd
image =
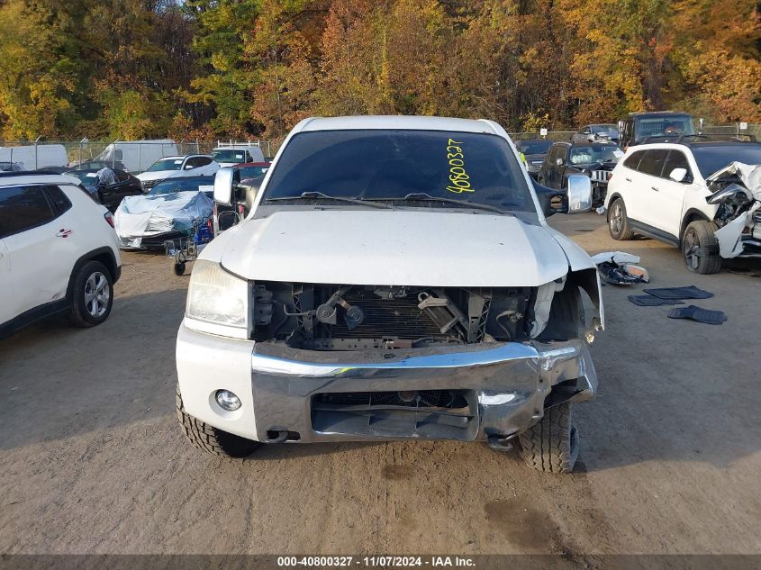
{"type": "MultiPolygon", "coordinates": [[[[226,235],[227,234],[227,235],[226,235]]],[[[568,271],[539,222],[409,210],[278,211],[212,243],[247,279],[347,285],[538,286],[568,271]]]]}

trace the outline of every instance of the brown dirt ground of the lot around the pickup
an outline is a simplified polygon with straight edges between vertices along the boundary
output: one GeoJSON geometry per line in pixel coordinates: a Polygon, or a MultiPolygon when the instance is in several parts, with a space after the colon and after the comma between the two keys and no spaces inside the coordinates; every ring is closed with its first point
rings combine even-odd
{"type": "Polygon", "coordinates": [[[103,326],[53,320],[0,341],[0,552],[761,553],[761,266],[693,276],[676,249],[612,241],[602,216],[552,222],[729,315],[669,320],[604,288],[577,474],[450,442],[206,457],[174,412],[187,277],[127,254],[103,326]]]}

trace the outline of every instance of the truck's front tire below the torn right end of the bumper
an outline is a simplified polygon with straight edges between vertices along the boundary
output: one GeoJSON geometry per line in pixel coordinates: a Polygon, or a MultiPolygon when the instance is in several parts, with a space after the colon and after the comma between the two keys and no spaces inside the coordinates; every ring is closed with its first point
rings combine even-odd
{"type": "Polygon", "coordinates": [[[579,456],[579,432],[571,403],[544,411],[544,417],[518,436],[521,457],[537,471],[570,473],[579,456]]]}

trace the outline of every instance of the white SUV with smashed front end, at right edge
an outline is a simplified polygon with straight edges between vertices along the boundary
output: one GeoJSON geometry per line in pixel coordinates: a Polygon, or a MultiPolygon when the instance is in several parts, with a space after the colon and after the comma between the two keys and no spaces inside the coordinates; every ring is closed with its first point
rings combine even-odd
{"type": "Polygon", "coordinates": [[[639,233],[672,244],[682,250],[687,268],[702,274],[720,271],[724,258],[758,256],[756,165],[757,142],[693,137],[629,149],[613,169],[605,200],[611,236],[630,240],[639,233]],[[733,167],[738,163],[743,167],[733,167]]]}

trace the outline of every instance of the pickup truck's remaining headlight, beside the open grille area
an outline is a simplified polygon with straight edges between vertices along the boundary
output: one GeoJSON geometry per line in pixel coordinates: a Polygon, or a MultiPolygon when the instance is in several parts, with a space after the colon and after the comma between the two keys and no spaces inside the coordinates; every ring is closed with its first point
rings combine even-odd
{"type": "Polygon", "coordinates": [[[186,317],[249,330],[249,283],[218,263],[195,262],[187,288],[186,317]]]}

